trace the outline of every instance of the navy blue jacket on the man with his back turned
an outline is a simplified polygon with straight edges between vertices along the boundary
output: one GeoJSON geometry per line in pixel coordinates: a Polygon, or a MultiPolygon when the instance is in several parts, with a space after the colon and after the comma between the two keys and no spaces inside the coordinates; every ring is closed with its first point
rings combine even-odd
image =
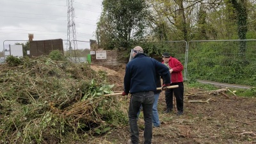
{"type": "Polygon", "coordinates": [[[136,54],[125,68],[124,92],[155,92],[157,73],[163,76],[165,84],[170,83],[168,67],[143,53],[136,54]]]}

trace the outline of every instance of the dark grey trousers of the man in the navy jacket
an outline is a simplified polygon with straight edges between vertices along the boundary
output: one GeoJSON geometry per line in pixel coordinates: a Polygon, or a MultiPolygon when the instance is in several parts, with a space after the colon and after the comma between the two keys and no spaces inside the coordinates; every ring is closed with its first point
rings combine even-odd
{"type": "Polygon", "coordinates": [[[140,106],[143,108],[145,121],[144,143],[150,144],[152,140],[152,107],[154,103],[154,92],[132,93],[129,105],[129,123],[131,129],[131,140],[133,144],[139,143],[139,129],[137,124],[137,113],[140,106]]]}

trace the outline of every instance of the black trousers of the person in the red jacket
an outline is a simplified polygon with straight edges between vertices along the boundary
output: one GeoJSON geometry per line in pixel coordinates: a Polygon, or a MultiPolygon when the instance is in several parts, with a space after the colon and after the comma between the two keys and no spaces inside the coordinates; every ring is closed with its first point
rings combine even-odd
{"type": "Polygon", "coordinates": [[[165,91],[165,102],[167,109],[173,109],[173,93],[176,98],[177,110],[183,111],[183,95],[184,95],[184,86],[183,82],[172,83],[172,85],[179,85],[179,88],[169,88],[165,91]]]}

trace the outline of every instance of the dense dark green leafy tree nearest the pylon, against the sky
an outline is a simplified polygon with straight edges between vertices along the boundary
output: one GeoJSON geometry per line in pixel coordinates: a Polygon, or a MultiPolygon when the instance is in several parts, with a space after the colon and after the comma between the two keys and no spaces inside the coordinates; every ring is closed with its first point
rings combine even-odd
{"type": "Polygon", "coordinates": [[[127,49],[133,40],[145,36],[148,15],[145,0],[104,0],[102,5],[96,30],[100,46],[127,49]]]}

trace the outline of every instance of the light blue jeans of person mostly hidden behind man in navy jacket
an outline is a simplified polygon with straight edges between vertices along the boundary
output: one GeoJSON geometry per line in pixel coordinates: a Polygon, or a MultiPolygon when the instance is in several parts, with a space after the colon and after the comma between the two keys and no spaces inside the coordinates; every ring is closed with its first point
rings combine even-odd
{"type": "MultiPolygon", "coordinates": [[[[153,103],[153,108],[152,108],[152,123],[154,127],[159,127],[160,126],[160,121],[159,121],[159,116],[158,116],[158,111],[157,111],[157,103],[159,99],[160,93],[155,93],[154,94],[154,103],[153,103]]],[[[141,108],[142,109],[142,106],[141,108]]],[[[139,118],[140,111],[137,113],[137,118],[139,118]]]]}

